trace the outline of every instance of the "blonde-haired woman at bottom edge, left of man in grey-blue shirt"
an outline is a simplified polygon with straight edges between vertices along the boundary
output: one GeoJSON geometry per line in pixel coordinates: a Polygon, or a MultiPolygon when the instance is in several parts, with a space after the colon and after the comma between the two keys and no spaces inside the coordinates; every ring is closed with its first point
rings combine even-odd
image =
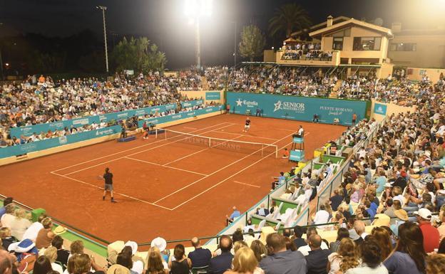
{"type": "Polygon", "coordinates": [[[258,261],[250,248],[240,248],[233,257],[232,270],[225,271],[224,274],[264,274],[261,268],[258,268],[258,261]]]}

